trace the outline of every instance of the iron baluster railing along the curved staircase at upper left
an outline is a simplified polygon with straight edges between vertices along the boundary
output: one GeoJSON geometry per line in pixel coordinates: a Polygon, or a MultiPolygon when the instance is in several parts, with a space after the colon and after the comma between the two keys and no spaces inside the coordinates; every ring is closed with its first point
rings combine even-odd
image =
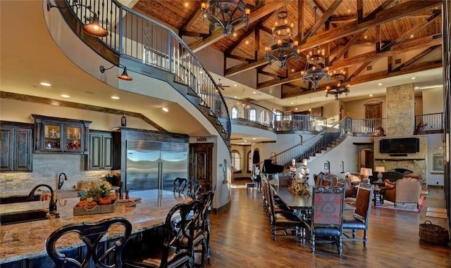
{"type": "MultiPolygon", "coordinates": [[[[187,85],[190,94],[200,96],[201,104],[209,108],[211,115],[218,117],[226,134],[223,139],[228,144],[231,126],[226,101],[209,72],[171,28],[116,0],[56,0],[56,4],[70,7],[80,23],[86,23],[92,16],[86,8],[80,8],[80,4],[89,6],[99,16],[99,24],[109,31],[107,37],[99,39],[100,42],[121,57],[166,70],[174,75],[173,82],[187,85]]],[[[149,87],[149,93],[151,90],[149,87]]]]}

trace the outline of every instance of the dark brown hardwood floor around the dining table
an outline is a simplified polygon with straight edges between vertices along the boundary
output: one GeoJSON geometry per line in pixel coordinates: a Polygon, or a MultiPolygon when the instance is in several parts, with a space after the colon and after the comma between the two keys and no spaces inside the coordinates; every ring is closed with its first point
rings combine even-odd
{"type": "Polygon", "coordinates": [[[273,241],[261,193],[232,188],[230,210],[211,215],[212,255],[206,267],[451,267],[451,249],[424,243],[418,234],[427,219],[447,226],[447,219],[426,217],[428,207],[445,208],[443,196],[442,188],[431,188],[419,213],[371,208],[368,245],[343,242],[340,257],[335,245],[317,244],[312,254],[309,243],[295,238],[273,241]]]}

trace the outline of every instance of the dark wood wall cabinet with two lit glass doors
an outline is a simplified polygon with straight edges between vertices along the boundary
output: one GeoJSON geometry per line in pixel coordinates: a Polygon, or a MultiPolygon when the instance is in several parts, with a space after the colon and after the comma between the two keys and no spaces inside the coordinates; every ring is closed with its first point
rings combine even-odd
{"type": "Polygon", "coordinates": [[[35,118],[35,153],[87,153],[91,121],[43,115],[35,118]]]}

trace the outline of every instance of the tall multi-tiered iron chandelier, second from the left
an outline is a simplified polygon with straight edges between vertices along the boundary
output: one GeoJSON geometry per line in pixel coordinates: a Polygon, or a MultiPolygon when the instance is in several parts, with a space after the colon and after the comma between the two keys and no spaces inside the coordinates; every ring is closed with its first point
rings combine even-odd
{"type": "Polygon", "coordinates": [[[277,21],[272,29],[274,43],[271,47],[265,47],[265,58],[269,64],[277,61],[281,69],[287,68],[288,60],[295,58],[299,61],[298,42],[293,41],[294,24],[288,24],[288,11],[284,8],[277,13],[277,21]]]}

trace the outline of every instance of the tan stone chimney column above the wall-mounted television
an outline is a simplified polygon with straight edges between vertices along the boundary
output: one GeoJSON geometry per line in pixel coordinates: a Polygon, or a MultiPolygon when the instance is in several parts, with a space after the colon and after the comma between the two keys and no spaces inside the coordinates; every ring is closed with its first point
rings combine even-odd
{"type": "Polygon", "coordinates": [[[385,133],[387,136],[412,136],[415,128],[413,84],[387,88],[385,133]]]}

